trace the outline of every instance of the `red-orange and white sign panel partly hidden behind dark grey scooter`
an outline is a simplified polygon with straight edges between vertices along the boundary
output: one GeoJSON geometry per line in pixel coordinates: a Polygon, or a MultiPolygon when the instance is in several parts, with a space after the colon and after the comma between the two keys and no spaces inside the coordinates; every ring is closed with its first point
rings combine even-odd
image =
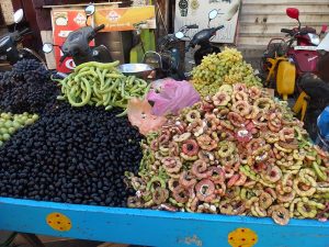
{"type": "MultiPolygon", "coordinates": [[[[83,9],[55,9],[52,11],[53,36],[55,45],[63,45],[70,32],[86,26],[86,14],[83,9]]],[[[89,19],[92,23],[93,19],[89,19]]],[[[91,41],[91,46],[94,46],[94,41],[91,41]]],[[[55,49],[56,69],[60,72],[70,72],[75,67],[73,59],[68,57],[60,66],[59,59],[63,56],[58,47],[55,49]]]]}

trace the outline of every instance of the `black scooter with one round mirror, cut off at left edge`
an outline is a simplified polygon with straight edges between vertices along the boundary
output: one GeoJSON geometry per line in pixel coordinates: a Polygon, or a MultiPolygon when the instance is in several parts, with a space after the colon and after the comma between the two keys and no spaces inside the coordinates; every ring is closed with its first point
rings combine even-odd
{"type": "Polygon", "coordinates": [[[23,10],[18,10],[14,13],[14,31],[0,37],[0,60],[14,65],[20,59],[29,58],[38,60],[47,68],[44,59],[36,52],[26,47],[18,47],[25,36],[33,34],[30,29],[24,29],[22,31],[16,30],[16,25],[23,20],[23,10]]]}

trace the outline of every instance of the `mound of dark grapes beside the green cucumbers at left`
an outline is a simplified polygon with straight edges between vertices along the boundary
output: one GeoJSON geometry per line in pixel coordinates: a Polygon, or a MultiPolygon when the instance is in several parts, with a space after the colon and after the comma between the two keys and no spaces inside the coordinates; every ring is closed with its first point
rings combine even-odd
{"type": "Polygon", "coordinates": [[[22,59],[0,75],[0,110],[4,112],[42,113],[58,93],[50,72],[34,59],[22,59]]]}

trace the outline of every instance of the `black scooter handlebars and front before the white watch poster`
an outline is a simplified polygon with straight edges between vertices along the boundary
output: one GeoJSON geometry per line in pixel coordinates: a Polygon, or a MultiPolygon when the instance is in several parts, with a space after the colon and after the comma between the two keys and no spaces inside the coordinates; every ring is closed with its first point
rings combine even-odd
{"type": "Polygon", "coordinates": [[[207,56],[213,53],[220,53],[220,48],[214,46],[211,43],[211,40],[216,35],[217,31],[224,29],[224,25],[209,27],[211,22],[220,14],[223,15],[222,16],[223,21],[231,20],[231,18],[238,12],[239,7],[240,7],[240,0],[236,0],[225,14],[220,13],[219,10],[216,9],[212,10],[208,13],[208,29],[197,32],[185,48],[185,52],[189,52],[190,48],[200,46],[197,50],[194,53],[194,61],[196,66],[201,64],[204,56],[207,56]]]}

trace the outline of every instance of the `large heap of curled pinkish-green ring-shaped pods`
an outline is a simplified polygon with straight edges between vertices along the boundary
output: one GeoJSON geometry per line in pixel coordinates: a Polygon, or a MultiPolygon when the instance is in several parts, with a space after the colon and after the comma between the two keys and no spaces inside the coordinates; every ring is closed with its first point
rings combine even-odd
{"type": "Polygon", "coordinates": [[[329,155],[265,90],[224,85],[143,144],[131,207],[326,218],[329,155]]]}

